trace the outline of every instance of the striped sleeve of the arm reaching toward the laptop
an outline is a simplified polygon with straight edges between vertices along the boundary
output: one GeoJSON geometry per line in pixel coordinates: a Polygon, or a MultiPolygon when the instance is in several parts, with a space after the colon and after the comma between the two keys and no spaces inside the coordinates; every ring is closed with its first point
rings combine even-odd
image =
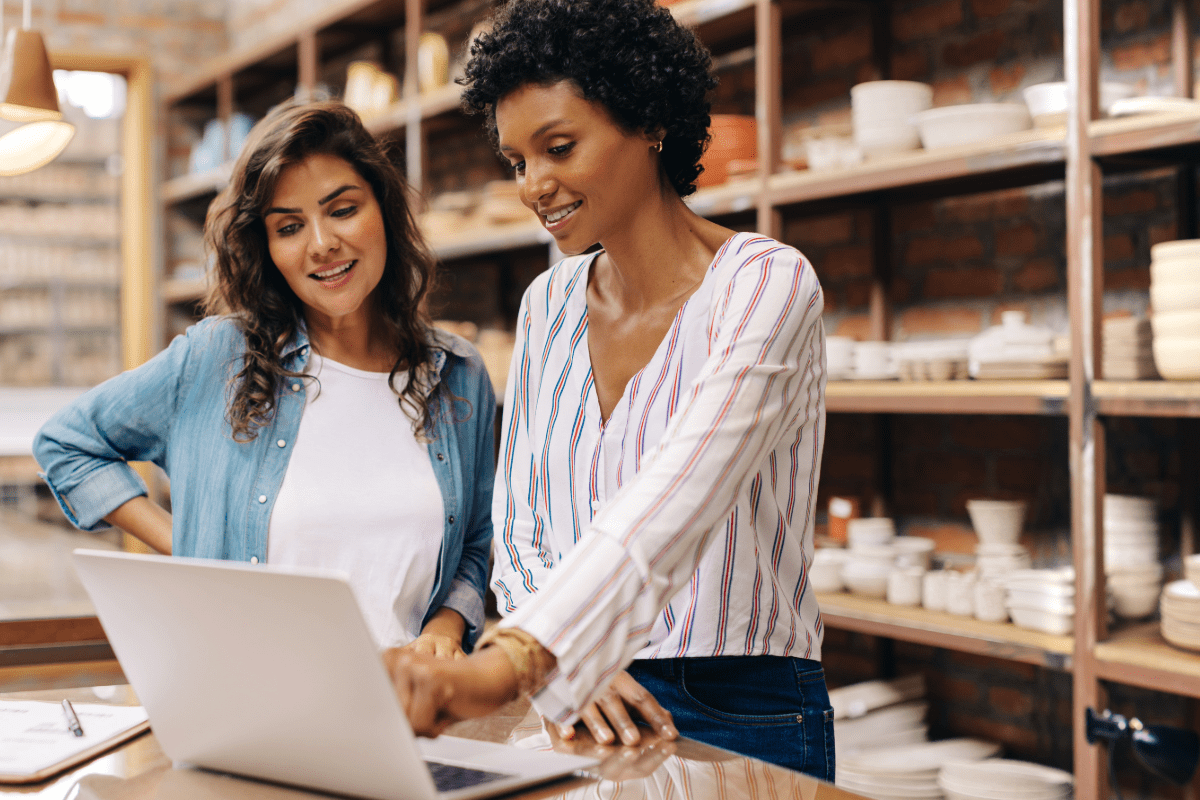
{"type": "Polygon", "coordinates": [[[740,265],[714,297],[708,357],[660,446],[502,622],[558,658],[534,697],[544,715],[575,718],[629,664],[762,461],[820,405],[822,307],[791,248],[740,265]]]}

